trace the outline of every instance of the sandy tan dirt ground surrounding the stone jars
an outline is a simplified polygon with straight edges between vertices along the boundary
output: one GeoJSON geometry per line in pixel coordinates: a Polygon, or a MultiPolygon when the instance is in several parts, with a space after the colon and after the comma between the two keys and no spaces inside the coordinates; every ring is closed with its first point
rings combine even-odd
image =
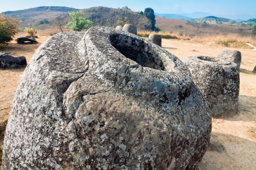
{"type": "MultiPolygon", "coordinates": [[[[48,38],[39,37],[38,44],[17,44],[12,41],[0,51],[9,52],[13,56],[23,55],[29,62],[36,49],[48,38]]],[[[197,43],[165,39],[162,40],[162,46],[183,62],[191,55],[217,56],[223,49],[236,49],[222,47],[214,41],[197,43]]],[[[212,139],[224,147],[224,152],[207,151],[198,166],[199,170],[256,169],[256,73],[252,72],[256,65],[256,50],[236,50],[242,53],[238,111],[233,117],[212,119],[212,139]]],[[[0,70],[0,146],[3,144],[12,99],[24,70],[0,70]]],[[[1,148],[0,153],[2,154],[1,148]]],[[[0,160],[0,164],[1,162],[0,160]]]]}

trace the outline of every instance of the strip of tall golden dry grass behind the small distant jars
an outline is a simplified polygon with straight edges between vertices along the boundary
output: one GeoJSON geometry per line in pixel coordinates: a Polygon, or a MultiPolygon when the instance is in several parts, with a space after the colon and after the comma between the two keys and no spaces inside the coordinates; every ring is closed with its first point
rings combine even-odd
{"type": "Polygon", "coordinates": [[[148,37],[149,34],[158,34],[161,35],[162,38],[164,39],[183,39],[183,40],[190,40],[189,37],[187,36],[183,36],[181,35],[179,32],[174,32],[174,33],[170,33],[170,32],[155,32],[155,31],[138,31],[137,35],[140,37],[148,37]]]}

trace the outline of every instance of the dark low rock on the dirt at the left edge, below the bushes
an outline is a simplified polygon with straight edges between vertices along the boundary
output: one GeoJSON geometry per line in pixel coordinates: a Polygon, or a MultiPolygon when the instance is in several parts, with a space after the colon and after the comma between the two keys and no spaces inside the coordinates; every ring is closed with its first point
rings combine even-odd
{"type": "Polygon", "coordinates": [[[0,68],[1,69],[13,69],[26,67],[27,60],[24,56],[13,57],[7,53],[0,54],[0,68]]]}

